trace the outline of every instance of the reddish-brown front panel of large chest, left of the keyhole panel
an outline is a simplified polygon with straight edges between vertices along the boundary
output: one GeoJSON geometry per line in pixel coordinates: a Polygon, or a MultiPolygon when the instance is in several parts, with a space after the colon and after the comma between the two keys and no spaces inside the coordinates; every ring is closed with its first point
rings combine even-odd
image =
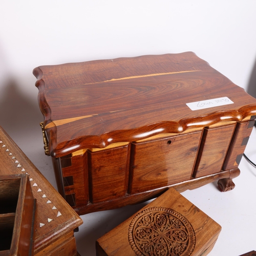
{"type": "Polygon", "coordinates": [[[129,146],[88,152],[90,201],[103,202],[121,198],[127,190],[129,146]]]}

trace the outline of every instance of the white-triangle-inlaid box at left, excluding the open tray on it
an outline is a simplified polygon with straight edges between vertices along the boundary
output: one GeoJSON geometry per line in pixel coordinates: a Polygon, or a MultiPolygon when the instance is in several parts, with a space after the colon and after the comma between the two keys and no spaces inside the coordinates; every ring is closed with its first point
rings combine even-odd
{"type": "MultiPolygon", "coordinates": [[[[32,188],[33,198],[36,199],[33,254],[65,255],[63,250],[66,250],[69,252],[67,255],[76,255],[74,229],[82,224],[82,220],[2,127],[0,127],[0,158],[0,174],[25,174],[29,179],[28,184],[32,188]]],[[[31,207],[31,204],[27,204],[27,207],[31,207]]],[[[24,234],[20,233],[20,236],[24,234]]]]}

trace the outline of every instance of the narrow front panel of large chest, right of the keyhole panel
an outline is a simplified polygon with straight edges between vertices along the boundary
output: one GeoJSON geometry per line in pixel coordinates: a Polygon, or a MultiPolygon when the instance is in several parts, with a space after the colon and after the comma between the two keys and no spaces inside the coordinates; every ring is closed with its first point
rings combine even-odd
{"type": "Polygon", "coordinates": [[[234,127],[233,124],[204,129],[193,175],[195,178],[221,171],[234,127]]]}

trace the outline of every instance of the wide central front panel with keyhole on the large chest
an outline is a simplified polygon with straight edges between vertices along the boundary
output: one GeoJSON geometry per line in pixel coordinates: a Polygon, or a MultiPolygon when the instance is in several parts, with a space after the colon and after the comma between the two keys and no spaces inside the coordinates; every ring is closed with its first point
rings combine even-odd
{"type": "Polygon", "coordinates": [[[129,192],[131,194],[190,180],[201,131],[132,143],[129,192]]]}

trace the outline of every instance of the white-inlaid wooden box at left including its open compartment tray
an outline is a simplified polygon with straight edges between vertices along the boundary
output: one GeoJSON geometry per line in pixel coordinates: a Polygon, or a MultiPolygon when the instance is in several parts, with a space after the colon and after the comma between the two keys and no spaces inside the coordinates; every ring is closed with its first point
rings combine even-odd
{"type": "Polygon", "coordinates": [[[1,126],[0,159],[1,176],[11,177],[0,182],[0,244],[4,239],[4,245],[7,245],[0,249],[0,255],[77,256],[74,230],[82,224],[81,218],[1,126]],[[35,213],[33,199],[36,199],[35,213]],[[29,231],[33,214],[31,244],[29,231]],[[17,250],[18,254],[15,254],[17,250]]]}

